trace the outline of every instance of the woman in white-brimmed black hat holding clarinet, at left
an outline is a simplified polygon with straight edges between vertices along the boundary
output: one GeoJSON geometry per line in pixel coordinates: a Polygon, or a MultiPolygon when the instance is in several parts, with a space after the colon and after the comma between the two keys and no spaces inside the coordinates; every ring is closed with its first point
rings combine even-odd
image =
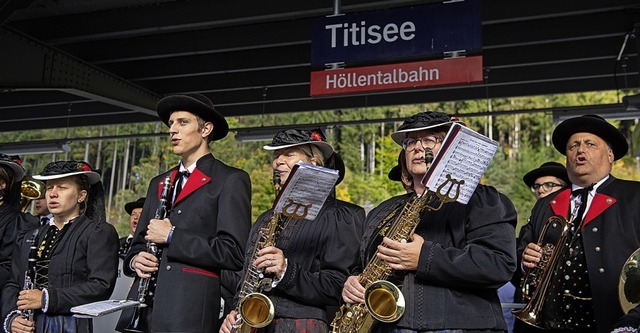
{"type": "Polygon", "coordinates": [[[7,332],[91,332],[90,319],[71,308],[109,298],[118,269],[118,234],[106,222],[100,174],[85,162],[47,164],[35,179],[46,181],[53,220],[28,232],[13,258],[12,280],[3,290],[7,332]],[[31,243],[38,244],[30,251],[31,243]],[[24,289],[28,262],[35,260],[32,289],[24,289]],[[34,321],[24,314],[32,311],[34,321]]]}

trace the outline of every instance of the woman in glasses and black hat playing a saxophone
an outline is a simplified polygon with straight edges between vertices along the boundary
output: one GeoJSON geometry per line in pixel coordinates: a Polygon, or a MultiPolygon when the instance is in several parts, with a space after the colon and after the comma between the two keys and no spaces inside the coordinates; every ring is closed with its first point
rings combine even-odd
{"type": "MultiPolygon", "coordinates": [[[[454,121],[441,112],[423,112],[408,118],[391,135],[404,149],[418,196],[427,195],[421,181],[431,163],[429,157],[438,154],[454,121]]],[[[391,280],[401,285],[405,302],[400,318],[379,323],[371,331],[506,330],[497,289],[516,269],[516,211],[511,201],[495,188],[479,185],[466,205],[448,202],[436,211],[419,211],[413,236],[406,242],[395,241],[387,237],[388,232],[394,229],[392,224],[403,223],[403,207],[413,195],[388,199],[367,215],[360,264],[344,284],[343,301],[365,301],[361,281],[370,277],[361,272],[377,256],[395,271],[391,280]]],[[[341,326],[349,321],[345,316],[332,327],[346,332],[341,326]]]]}

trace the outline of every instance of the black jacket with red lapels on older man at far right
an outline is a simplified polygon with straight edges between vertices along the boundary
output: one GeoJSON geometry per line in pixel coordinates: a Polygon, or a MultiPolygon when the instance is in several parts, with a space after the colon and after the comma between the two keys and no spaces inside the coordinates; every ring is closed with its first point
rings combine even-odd
{"type": "MultiPolygon", "coordinates": [[[[596,189],[582,224],[582,242],[593,294],[598,332],[615,327],[640,325],[640,309],[624,316],[618,300],[618,279],[626,259],[640,247],[640,183],[609,176],[596,189]]],[[[540,199],[533,207],[529,223],[518,243],[518,267],[527,244],[538,241],[545,222],[552,215],[567,216],[571,191],[558,191],[540,199]]],[[[545,241],[560,237],[560,225],[551,225],[545,241]]],[[[516,281],[517,282],[517,281],[516,281]]]]}

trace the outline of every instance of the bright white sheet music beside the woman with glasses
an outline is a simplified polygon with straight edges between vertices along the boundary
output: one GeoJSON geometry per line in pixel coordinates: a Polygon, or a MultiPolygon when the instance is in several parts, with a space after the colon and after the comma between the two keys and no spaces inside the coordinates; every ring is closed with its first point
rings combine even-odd
{"type": "Polygon", "coordinates": [[[422,182],[435,192],[447,180],[447,174],[464,180],[457,201],[466,204],[497,149],[496,141],[460,124],[453,124],[422,182]]]}

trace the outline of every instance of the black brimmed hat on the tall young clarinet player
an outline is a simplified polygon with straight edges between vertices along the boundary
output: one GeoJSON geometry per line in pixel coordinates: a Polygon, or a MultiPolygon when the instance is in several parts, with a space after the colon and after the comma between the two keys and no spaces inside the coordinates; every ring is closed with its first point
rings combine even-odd
{"type": "Polygon", "coordinates": [[[209,140],[216,141],[229,133],[229,124],[222,114],[216,111],[211,100],[200,94],[172,95],[161,99],[156,105],[158,117],[169,126],[169,117],[175,111],[191,112],[205,121],[213,123],[213,131],[209,140]]]}

